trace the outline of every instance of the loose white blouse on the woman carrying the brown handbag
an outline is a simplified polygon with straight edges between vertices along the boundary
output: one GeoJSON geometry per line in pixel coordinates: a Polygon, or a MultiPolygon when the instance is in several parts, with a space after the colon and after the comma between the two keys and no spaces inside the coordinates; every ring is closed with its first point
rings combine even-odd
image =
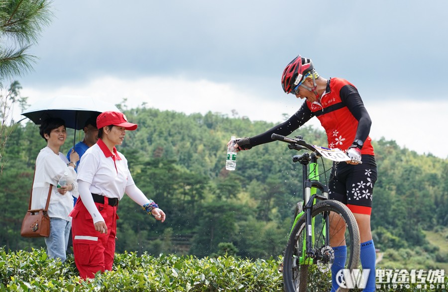
{"type": "Polygon", "coordinates": [[[64,154],[55,154],[49,147],[40,150],[36,158],[36,171],[32,190],[31,209],[45,208],[48,190],[53,185],[48,205],[48,215],[50,217],[62,218],[71,221],[69,213],[73,210],[73,196],[78,197],[76,188],[76,172],[73,167],[67,167],[69,161],[64,154]],[[67,192],[65,195],[59,194],[56,185],[59,179],[68,174],[67,184],[75,183],[75,190],[67,192]]]}

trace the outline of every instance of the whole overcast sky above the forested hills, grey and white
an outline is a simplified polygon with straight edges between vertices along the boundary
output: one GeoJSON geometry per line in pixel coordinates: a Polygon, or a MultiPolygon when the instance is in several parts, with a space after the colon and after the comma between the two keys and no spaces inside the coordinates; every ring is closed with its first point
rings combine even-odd
{"type": "Polygon", "coordinates": [[[358,88],[373,139],[448,157],[446,0],[54,0],[53,11],[34,72],[17,78],[29,103],[127,98],[279,122],[302,103],[280,84],[301,54],[358,88]]]}

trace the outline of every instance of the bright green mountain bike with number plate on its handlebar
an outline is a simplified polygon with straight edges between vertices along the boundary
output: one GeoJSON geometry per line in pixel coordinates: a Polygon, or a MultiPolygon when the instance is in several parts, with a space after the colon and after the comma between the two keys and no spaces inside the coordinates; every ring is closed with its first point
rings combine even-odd
{"type": "MultiPolygon", "coordinates": [[[[272,134],[271,138],[289,143],[288,148],[292,150],[308,150],[302,155],[293,156],[293,162],[302,165],[303,201],[296,204],[294,223],[283,263],[279,266],[279,272],[283,273],[284,289],[286,292],[305,292],[312,283],[312,291],[330,291],[334,248],[346,246],[345,264],[338,266],[338,270],[356,269],[360,237],[356,220],[347,206],[328,198],[328,183],[319,181],[318,159],[342,162],[350,158],[339,149],[310,145],[301,136],[292,139],[272,134]]],[[[336,263],[340,260],[337,259],[336,263]]],[[[348,290],[339,288],[338,291],[348,290]]]]}

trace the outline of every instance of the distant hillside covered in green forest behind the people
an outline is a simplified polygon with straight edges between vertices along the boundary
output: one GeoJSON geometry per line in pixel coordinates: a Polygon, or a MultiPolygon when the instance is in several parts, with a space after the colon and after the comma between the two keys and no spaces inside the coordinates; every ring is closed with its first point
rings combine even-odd
{"type": "MultiPolygon", "coordinates": [[[[155,222],[129,197],[119,203],[117,252],[148,251],[194,254],[222,253],[223,246],[240,257],[280,255],[292,223],[293,206],[301,198],[301,167],[280,142],[239,152],[233,172],[224,169],[231,135],[253,136],[274,124],[152,108],[125,111],[136,131],[126,132],[118,146],[129,161],[137,186],[167,213],[155,222]],[[227,243],[226,245],[220,243],[227,243]],[[230,247],[230,249],[229,249],[230,247]]],[[[73,146],[73,130],[63,147],[73,146]]],[[[303,127],[312,144],[327,145],[320,129],[303,127]]],[[[82,139],[77,132],[76,140],[82,139]]],[[[19,235],[26,211],[35,158],[46,145],[31,122],[18,125],[6,146],[8,161],[0,176],[0,246],[18,250],[45,246],[43,240],[19,235]]],[[[375,247],[389,266],[434,268],[448,262],[423,230],[447,234],[448,161],[417,155],[394,141],[374,141],[379,179],[373,198],[375,247]]],[[[326,169],[330,169],[326,161],[326,169]]],[[[321,169],[321,173],[323,173],[321,169]]]]}

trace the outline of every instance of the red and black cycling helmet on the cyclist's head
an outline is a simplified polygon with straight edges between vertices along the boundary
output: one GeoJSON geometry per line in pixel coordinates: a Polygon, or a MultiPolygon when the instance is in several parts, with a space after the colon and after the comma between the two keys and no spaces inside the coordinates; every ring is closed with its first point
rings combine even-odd
{"type": "Polygon", "coordinates": [[[300,84],[307,73],[314,69],[311,59],[302,58],[300,55],[294,58],[285,68],[282,75],[283,91],[289,94],[300,84]]]}

